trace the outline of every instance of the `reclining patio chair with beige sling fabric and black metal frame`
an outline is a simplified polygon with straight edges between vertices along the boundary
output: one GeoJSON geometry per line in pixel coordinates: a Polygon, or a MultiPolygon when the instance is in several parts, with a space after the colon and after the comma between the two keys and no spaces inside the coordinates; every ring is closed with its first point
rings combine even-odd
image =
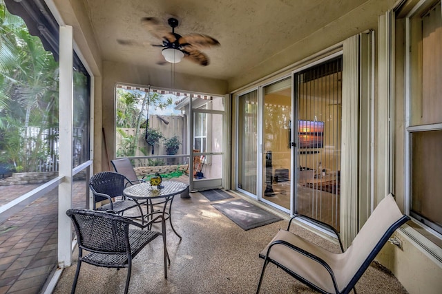
{"type": "Polygon", "coordinates": [[[291,220],[287,230],[278,231],[259,255],[264,265],[256,293],[269,262],[320,293],[349,293],[392,233],[410,218],[401,213],[392,194],[388,195],[343,253],[331,253],[290,232],[291,220]]]}

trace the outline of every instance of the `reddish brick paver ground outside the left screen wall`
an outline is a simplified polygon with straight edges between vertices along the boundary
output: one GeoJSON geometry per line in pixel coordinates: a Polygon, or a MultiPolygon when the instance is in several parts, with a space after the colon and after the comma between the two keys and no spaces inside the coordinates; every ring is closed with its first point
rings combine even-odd
{"type": "MultiPolygon", "coordinates": [[[[37,185],[0,187],[0,205],[37,185]]],[[[0,224],[0,294],[39,293],[57,266],[58,189],[0,224]]],[[[75,181],[73,207],[84,208],[86,182],[75,181]]]]}

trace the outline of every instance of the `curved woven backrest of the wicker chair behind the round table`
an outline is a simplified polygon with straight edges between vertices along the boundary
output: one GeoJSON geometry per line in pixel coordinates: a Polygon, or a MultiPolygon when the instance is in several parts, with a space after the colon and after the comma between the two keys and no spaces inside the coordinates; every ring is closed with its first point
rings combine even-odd
{"type": "MultiPolygon", "coordinates": [[[[102,171],[90,177],[89,187],[93,193],[103,193],[114,198],[123,195],[126,182],[128,182],[128,178],[122,174],[113,171],[102,171]]],[[[105,199],[106,198],[96,196],[95,202],[105,199]]]]}

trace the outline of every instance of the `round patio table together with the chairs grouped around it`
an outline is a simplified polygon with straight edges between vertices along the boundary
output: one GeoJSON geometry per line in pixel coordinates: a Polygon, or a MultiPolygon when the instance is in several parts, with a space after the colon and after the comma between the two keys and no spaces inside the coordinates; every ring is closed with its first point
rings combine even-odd
{"type": "Polygon", "coordinates": [[[112,163],[115,172],[103,171],[90,178],[89,187],[94,196],[93,210],[66,211],[75,227],[79,253],[71,293],[75,293],[81,262],[108,268],[127,268],[124,289],[124,293],[127,293],[133,258],[159,236],[162,236],[163,241],[164,277],[167,278],[166,264],[171,261],[166,248],[166,220],[169,219],[175,235],[182,238],[173,227],[171,208],[175,195],[189,197],[189,186],[175,180],[160,181],[155,185],[152,180],[146,182],[134,178],[135,171],[129,160],[113,160],[112,163]],[[103,201],[106,203],[101,204],[103,201]],[[135,216],[133,213],[131,216],[123,216],[129,209],[137,210],[135,216]],[[153,224],[157,223],[161,224],[161,231],[153,229],[153,224]],[[88,253],[84,255],[83,251],[88,253]]]}

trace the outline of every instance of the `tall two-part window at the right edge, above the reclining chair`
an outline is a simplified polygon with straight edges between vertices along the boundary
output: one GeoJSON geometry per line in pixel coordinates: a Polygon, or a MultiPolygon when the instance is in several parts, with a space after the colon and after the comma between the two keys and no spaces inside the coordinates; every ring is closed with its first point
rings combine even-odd
{"type": "Polygon", "coordinates": [[[442,233],[442,16],[427,1],[409,19],[410,214],[442,233]]]}

